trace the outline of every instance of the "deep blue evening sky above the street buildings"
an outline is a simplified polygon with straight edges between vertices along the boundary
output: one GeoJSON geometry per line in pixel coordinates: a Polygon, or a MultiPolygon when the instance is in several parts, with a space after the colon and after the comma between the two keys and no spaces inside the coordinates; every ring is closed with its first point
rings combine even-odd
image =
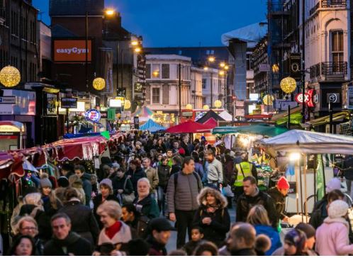
{"type": "MultiPolygon", "coordinates": [[[[50,23],[49,0],[33,0],[50,23]]],[[[267,0],[106,0],[145,47],[217,46],[220,35],[266,18],[267,0]]]]}

